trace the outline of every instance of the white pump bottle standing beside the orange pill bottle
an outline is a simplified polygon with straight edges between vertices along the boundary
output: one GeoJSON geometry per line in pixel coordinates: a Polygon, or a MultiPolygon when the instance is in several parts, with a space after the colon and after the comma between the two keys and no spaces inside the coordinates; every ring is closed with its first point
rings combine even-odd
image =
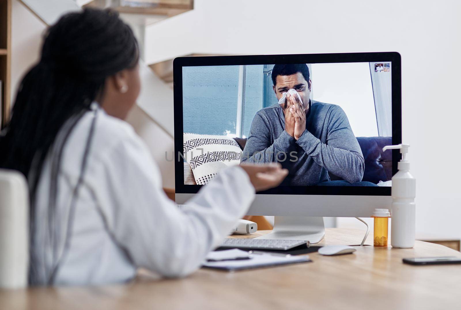
{"type": "Polygon", "coordinates": [[[402,160],[398,162],[399,171],[392,177],[392,207],[390,212],[390,244],[392,247],[414,247],[416,178],[410,173],[407,160],[409,144],[388,145],[386,149],[400,149],[402,160]]]}

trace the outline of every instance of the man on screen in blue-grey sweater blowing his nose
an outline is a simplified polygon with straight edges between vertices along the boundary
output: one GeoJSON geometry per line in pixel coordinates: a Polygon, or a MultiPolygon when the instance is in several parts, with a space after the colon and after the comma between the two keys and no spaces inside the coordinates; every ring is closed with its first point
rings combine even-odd
{"type": "Polygon", "coordinates": [[[242,163],[279,161],[289,169],[284,185],[355,185],[361,182],[364,159],[347,116],[339,106],[309,99],[312,81],[303,64],[277,64],[273,90],[283,103],[254,116],[243,149],[242,163]],[[330,181],[328,172],[342,178],[330,181]]]}

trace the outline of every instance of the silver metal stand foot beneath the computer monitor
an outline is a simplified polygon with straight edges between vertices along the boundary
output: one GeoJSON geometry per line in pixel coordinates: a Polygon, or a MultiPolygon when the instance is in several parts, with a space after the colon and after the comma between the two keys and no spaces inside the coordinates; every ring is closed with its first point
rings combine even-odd
{"type": "Polygon", "coordinates": [[[324,236],[325,225],[322,217],[276,216],[272,232],[255,239],[302,240],[318,243],[324,236]]]}

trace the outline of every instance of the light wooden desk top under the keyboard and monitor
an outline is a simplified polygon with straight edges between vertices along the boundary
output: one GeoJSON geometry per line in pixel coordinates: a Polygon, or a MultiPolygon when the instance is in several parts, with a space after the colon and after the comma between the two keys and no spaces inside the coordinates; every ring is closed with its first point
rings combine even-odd
{"type": "MultiPolygon", "coordinates": [[[[358,244],[363,234],[327,229],[321,244],[358,244]]],[[[372,234],[367,244],[372,244],[372,234]]],[[[0,290],[0,308],[460,309],[461,265],[402,264],[402,258],[424,256],[461,253],[423,241],[416,241],[413,249],[358,247],[355,254],[311,253],[313,263],[260,270],[202,269],[176,280],[144,275],[126,285],[0,290]]]]}

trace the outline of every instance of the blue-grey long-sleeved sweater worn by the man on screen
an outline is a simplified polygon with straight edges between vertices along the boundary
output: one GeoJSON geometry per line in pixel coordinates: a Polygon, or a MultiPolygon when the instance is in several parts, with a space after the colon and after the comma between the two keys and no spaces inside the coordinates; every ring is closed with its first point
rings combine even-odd
{"type": "Polygon", "coordinates": [[[365,167],[360,145],[343,109],[317,101],[311,101],[306,130],[297,141],[285,131],[284,112],[279,104],[256,113],[242,162],[273,161],[281,162],[290,171],[284,185],[319,184],[330,180],[328,172],[349,183],[360,182],[365,167]]]}

